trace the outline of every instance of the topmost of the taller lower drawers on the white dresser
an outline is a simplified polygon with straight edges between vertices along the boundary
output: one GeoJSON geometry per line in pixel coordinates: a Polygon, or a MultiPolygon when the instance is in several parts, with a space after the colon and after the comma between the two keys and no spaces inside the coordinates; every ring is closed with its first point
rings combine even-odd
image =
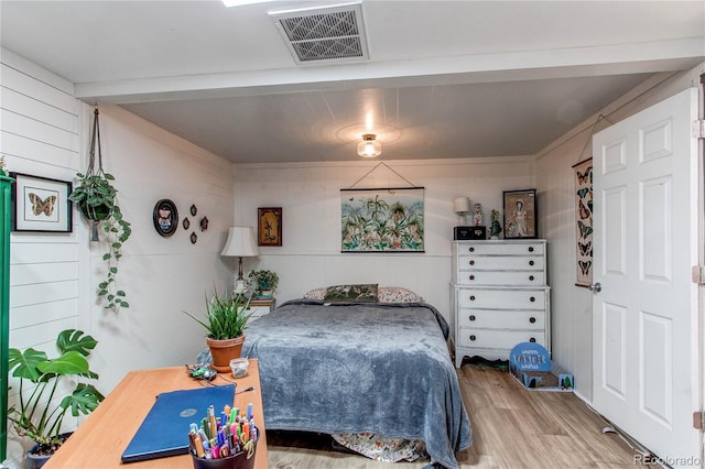
{"type": "Polygon", "coordinates": [[[545,290],[459,288],[459,308],[545,309],[545,290]]]}

